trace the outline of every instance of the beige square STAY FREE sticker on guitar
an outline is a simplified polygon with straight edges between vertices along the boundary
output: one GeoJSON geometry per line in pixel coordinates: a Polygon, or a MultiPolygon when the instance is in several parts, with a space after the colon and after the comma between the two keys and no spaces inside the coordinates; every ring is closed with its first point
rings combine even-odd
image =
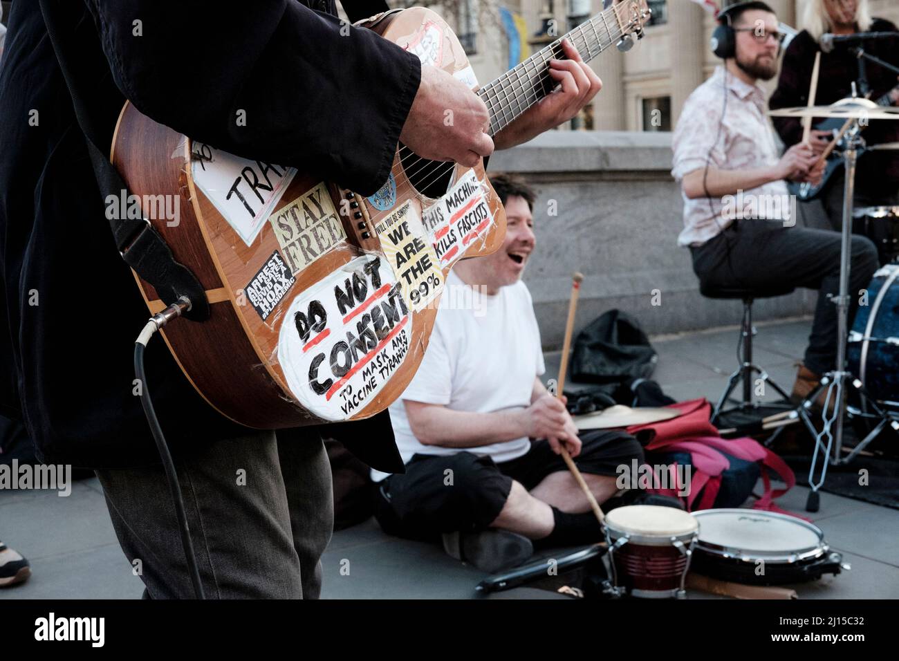
{"type": "Polygon", "coordinates": [[[269,218],[291,273],[298,273],[346,240],[325,182],[269,218]]]}

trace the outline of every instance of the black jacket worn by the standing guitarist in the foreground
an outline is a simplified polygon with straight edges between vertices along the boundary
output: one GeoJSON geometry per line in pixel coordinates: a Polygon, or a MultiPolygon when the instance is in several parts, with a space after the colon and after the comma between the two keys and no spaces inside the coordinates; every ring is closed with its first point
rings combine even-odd
{"type": "MultiPolygon", "coordinates": [[[[315,11],[296,0],[13,3],[0,61],[0,413],[24,420],[42,460],[158,461],[132,394],[147,309],[112,241],[42,12],[63,19],[78,66],[95,72],[86,99],[108,136],[102,150],[127,98],[191,138],[312,164],[370,194],[387,179],[419,60],[371,31],[342,36],[333,0],[310,2],[315,11]]],[[[344,8],[356,20],[383,5],[344,8]]],[[[163,342],[147,350],[147,383],[175,454],[248,431],[197,395],[163,342]]],[[[387,414],[327,431],[370,464],[402,469],[387,414]]]]}

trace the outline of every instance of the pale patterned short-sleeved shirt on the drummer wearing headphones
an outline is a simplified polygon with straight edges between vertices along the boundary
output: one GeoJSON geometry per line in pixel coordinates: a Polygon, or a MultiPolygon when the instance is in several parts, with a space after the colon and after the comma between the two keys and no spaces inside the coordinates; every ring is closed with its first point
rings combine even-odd
{"type": "MultiPolygon", "coordinates": [[[[776,164],[778,149],[765,111],[765,92],[761,85],[748,85],[725,72],[724,67],[717,67],[683,104],[672,140],[674,179],[681,182],[685,175],[704,169],[707,163],[709,168],[717,170],[746,170],[776,164]]],[[[783,181],[764,183],[735,195],[694,200],[687,197],[681,186],[681,196],[684,228],[678,237],[679,246],[701,246],[717,237],[734,218],[787,220],[790,217],[787,183],[783,181]]]]}

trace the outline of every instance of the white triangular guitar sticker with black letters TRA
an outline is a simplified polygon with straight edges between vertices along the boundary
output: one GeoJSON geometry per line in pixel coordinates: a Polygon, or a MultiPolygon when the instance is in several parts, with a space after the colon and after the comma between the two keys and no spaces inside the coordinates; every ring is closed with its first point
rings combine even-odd
{"type": "Polygon", "coordinates": [[[202,142],[191,143],[193,183],[247,246],[259,236],[296,173],[292,167],[251,161],[202,142]]]}

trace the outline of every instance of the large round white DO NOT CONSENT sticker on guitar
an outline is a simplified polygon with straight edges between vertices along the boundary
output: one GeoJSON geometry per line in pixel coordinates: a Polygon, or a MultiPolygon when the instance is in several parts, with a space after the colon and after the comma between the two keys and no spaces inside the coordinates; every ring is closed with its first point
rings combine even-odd
{"type": "Polygon", "coordinates": [[[325,420],[346,420],[396,374],[411,330],[390,268],[380,257],[361,256],[293,299],[278,362],[302,406],[325,420]]]}

